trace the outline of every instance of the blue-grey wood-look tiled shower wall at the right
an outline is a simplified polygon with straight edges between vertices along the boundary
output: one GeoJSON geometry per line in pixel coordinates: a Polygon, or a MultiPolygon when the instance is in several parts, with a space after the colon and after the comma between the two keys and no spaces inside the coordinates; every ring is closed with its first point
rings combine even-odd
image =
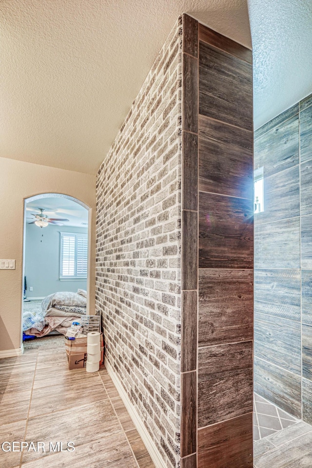
{"type": "Polygon", "coordinates": [[[254,389],[312,423],[312,95],[255,132],[254,389]]]}

